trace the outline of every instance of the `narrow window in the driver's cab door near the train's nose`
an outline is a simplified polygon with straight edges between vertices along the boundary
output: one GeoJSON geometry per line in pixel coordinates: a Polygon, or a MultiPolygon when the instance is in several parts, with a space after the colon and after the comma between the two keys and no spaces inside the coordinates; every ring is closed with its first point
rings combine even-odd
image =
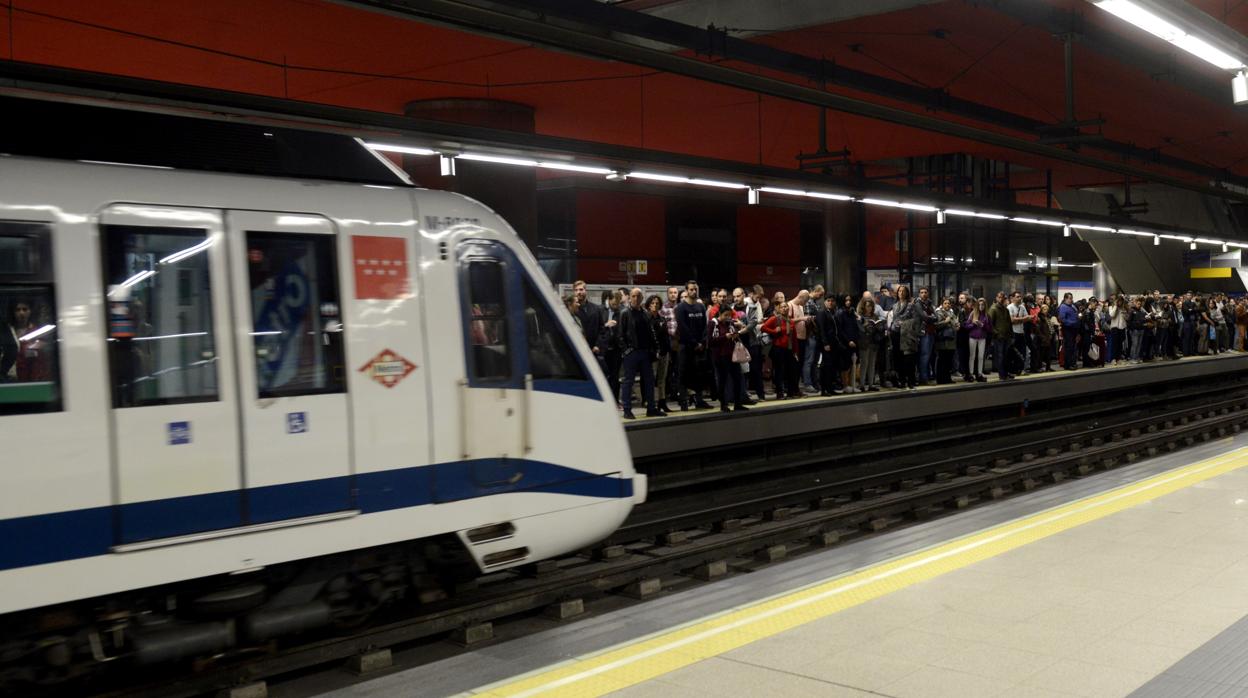
{"type": "Polygon", "coordinates": [[[487,260],[468,263],[469,371],[477,381],[509,381],[512,358],[507,327],[507,285],[503,265],[487,260]]]}

